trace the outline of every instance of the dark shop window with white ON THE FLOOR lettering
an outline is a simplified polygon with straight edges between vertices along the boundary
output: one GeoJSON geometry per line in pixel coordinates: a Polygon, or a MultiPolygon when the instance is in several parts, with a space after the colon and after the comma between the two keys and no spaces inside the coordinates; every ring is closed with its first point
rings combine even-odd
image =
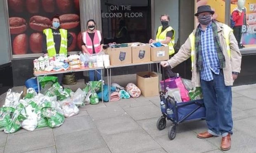
{"type": "Polygon", "coordinates": [[[104,44],[147,43],[151,31],[151,0],[101,0],[104,44]]]}

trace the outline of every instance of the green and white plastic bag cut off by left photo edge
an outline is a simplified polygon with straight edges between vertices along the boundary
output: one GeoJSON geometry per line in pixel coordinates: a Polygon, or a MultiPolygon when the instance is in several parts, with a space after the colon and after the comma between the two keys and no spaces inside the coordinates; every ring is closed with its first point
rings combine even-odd
{"type": "Polygon", "coordinates": [[[12,107],[0,107],[0,131],[4,130],[4,127],[8,125],[6,121],[9,121],[14,110],[12,107]]]}

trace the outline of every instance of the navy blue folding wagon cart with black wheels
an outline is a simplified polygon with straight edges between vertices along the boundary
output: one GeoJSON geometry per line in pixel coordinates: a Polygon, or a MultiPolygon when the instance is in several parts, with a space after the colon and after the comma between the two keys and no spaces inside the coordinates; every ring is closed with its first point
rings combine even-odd
{"type": "MultiPolygon", "coordinates": [[[[164,81],[161,81],[161,84],[164,85],[162,90],[166,89],[165,79],[164,81]]],[[[175,138],[176,126],[180,123],[185,121],[203,120],[206,118],[203,99],[178,102],[175,97],[169,95],[166,90],[163,90],[160,92],[160,105],[162,116],[158,119],[156,127],[158,130],[164,130],[166,127],[166,119],[171,121],[172,124],[168,129],[168,137],[170,140],[175,138]]]]}

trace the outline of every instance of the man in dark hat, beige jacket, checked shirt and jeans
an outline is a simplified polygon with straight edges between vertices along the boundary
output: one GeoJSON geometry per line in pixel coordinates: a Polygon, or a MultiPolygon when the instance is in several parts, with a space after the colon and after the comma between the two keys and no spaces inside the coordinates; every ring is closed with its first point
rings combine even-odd
{"type": "Polygon", "coordinates": [[[209,5],[197,8],[199,25],[190,34],[175,56],[162,61],[172,68],[191,57],[192,84],[201,87],[206,107],[208,131],[198,138],[222,136],[220,148],[231,148],[232,91],[231,86],[241,70],[241,53],[232,29],[212,19],[209,5]]]}

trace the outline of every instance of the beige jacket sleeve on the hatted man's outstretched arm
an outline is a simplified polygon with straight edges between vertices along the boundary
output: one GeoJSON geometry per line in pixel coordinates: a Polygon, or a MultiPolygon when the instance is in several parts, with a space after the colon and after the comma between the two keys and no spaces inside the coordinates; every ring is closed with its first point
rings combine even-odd
{"type": "Polygon", "coordinates": [[[183,61],[187,60],[191,56],[190,38],[187,38],[186,42],[180,47],[178,53],[176,53],[170,60],[169,65],[173,68],[183,61]]]}

